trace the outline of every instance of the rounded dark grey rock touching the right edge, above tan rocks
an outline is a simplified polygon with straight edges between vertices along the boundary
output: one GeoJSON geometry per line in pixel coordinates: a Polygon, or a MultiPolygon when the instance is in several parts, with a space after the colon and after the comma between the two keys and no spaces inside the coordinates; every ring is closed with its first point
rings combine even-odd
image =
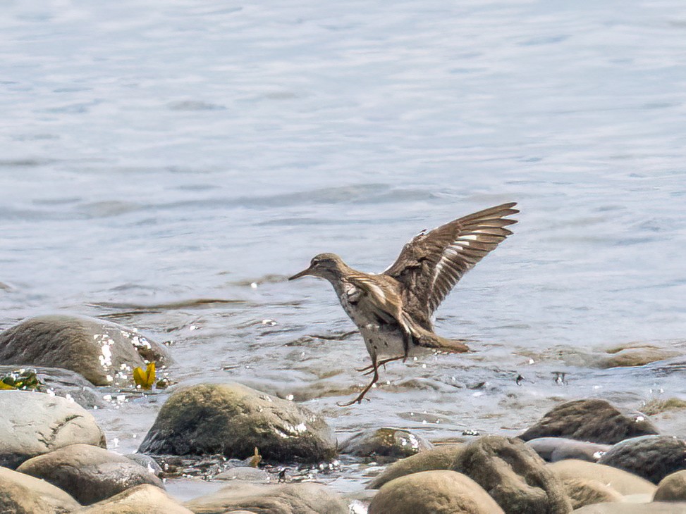
{"type": "Polygon", "coordinates": [[[686,469],[686,441],[667,435],[634,437],[615,444],[598,463],[657,484],[667,475],[686,469]]]}

